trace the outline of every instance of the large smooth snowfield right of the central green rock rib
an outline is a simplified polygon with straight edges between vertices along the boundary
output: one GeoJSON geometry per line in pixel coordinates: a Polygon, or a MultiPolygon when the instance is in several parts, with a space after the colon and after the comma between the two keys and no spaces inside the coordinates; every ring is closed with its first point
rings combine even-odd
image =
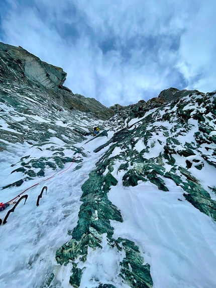
{"type": "Polygon", "coordinates": [[[215,225],[190,203],[178,201],[183,190],[171,182],[166,193],[150,182],[113,186],[109,199],[124,219],[112,221],[114,237],[139,243],[149,255],[154,288],[214,288],[215,225]]]}

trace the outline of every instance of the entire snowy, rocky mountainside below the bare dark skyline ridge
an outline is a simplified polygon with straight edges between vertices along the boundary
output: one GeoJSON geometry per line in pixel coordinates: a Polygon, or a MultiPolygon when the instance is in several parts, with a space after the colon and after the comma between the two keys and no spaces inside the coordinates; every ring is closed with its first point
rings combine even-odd
{"type": "Polygon", "coordinates": [[[56,175],[28,190],[26,204],[0,227],[1,286],[215,287],[215,95],[190,94],[104,122],[2,109],[10,123],[27,119],[17,129],[4,116],[3,131],[23,133],[31,122],[38,136],[32,144],[34,133],[22,143],[4,136],[1,202],[56,175]],[[107,132],[92,139],[93,124],[107,132]],[[76,136],[68,132],[75,129],[76,136]]]}

